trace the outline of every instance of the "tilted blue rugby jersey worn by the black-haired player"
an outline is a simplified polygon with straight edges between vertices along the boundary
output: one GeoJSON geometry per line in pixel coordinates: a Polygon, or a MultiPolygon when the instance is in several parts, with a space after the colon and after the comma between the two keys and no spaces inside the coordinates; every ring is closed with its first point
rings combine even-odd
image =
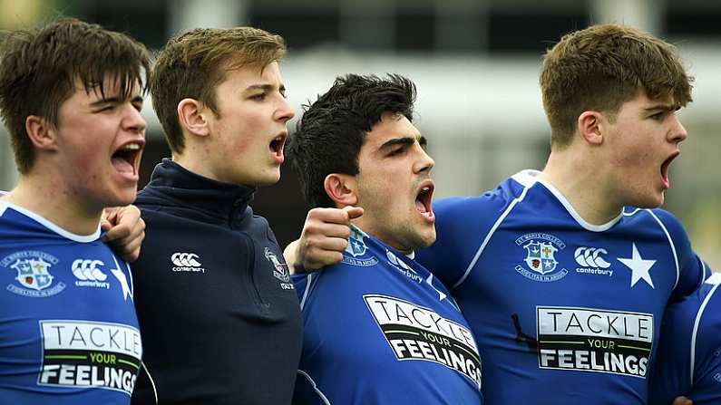
{"type": "Polygon", "coordinates": [[[482,404],[468,323],[422,265],[356,227],[338,265],[294,281],[297,404],[482,404]]]}

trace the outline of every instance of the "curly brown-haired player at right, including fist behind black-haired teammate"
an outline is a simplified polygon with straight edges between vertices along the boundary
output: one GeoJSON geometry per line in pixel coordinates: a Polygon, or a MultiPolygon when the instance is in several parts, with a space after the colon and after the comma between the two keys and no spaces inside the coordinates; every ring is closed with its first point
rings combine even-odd
{"type": "MultiPolygon", "coordinates": [[[[706,273],[656,208],[687,138],[676,111],[691,80],[672,45],[633,28],[567,34],[541,69],[545,169],[434,205],[438,239],[416,257],[471,324],[489,403],[646,403],[664,308],[706,273]]],[[[288,258],[337,260],[348,221],[309,213],[288,258]]]]}

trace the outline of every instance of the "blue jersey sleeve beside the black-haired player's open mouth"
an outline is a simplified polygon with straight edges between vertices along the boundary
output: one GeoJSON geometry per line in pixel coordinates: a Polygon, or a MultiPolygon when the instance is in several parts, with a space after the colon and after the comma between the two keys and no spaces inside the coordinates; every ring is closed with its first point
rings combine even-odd
{"type": "Polygon", "coordinates": [[[443,198],[434,203],[436,240],[416,259],[453,289],[471,270],[474,257],[509,202],[502,188],[478,197],[443,198]]]}

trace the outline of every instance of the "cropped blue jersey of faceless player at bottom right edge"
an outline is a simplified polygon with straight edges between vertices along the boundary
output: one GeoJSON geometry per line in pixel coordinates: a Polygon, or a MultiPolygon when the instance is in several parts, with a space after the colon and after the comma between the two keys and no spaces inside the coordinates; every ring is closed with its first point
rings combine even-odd
{"type": "Polygon", "coordinates": [[[679,395],[694,405],[721,403],[721,274],[695,294],[671,304],[651,364],[648,403],[668,405],[679,395]]]}

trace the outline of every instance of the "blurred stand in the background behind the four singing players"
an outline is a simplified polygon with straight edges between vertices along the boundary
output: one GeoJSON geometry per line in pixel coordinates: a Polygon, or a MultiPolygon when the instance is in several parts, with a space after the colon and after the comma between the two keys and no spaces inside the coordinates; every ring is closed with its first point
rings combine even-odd
{"type": "MultiPolygon", "coordinates": [[[[291,103],[315,100],[336,75],[399,72],[420,97],[416,126],[437,166],[437,197],[473,195],[519,169],[541,169],[549,128],[541,107],[541,55],[562,34],[593,23],[636,26],[676,43],[696,76],[694,102],[680,111],[689,139],[671,169],[666,209],[686,225],[697,252],[721,269],[721,2],[704,0],[0,0],[0,29],[58,15],[132,34],[151,48],[199,26],[254,25],[283,35],[291,103]]],[[[48,61],[52,63],[52,61],[48,61]]],[[[141,186],[170,156],[151,102],[141,186]]],[[[297,118],[299,117],[299,113],[297,118]]],[[[296,118],[296,120],[297,120],[296,118]]],[[[295,121],[289,130],[295,128],[295,121]]],[[[288,163],[288,162],[287,162],[288,163]]],[[[281,245],[305,219],[289,166],[253,204],[281,245]]],[[[0,188],[16,180],[0,128],[0,188]]],[[[539,213],[543,215],[543,213],[539,213]]]]}

